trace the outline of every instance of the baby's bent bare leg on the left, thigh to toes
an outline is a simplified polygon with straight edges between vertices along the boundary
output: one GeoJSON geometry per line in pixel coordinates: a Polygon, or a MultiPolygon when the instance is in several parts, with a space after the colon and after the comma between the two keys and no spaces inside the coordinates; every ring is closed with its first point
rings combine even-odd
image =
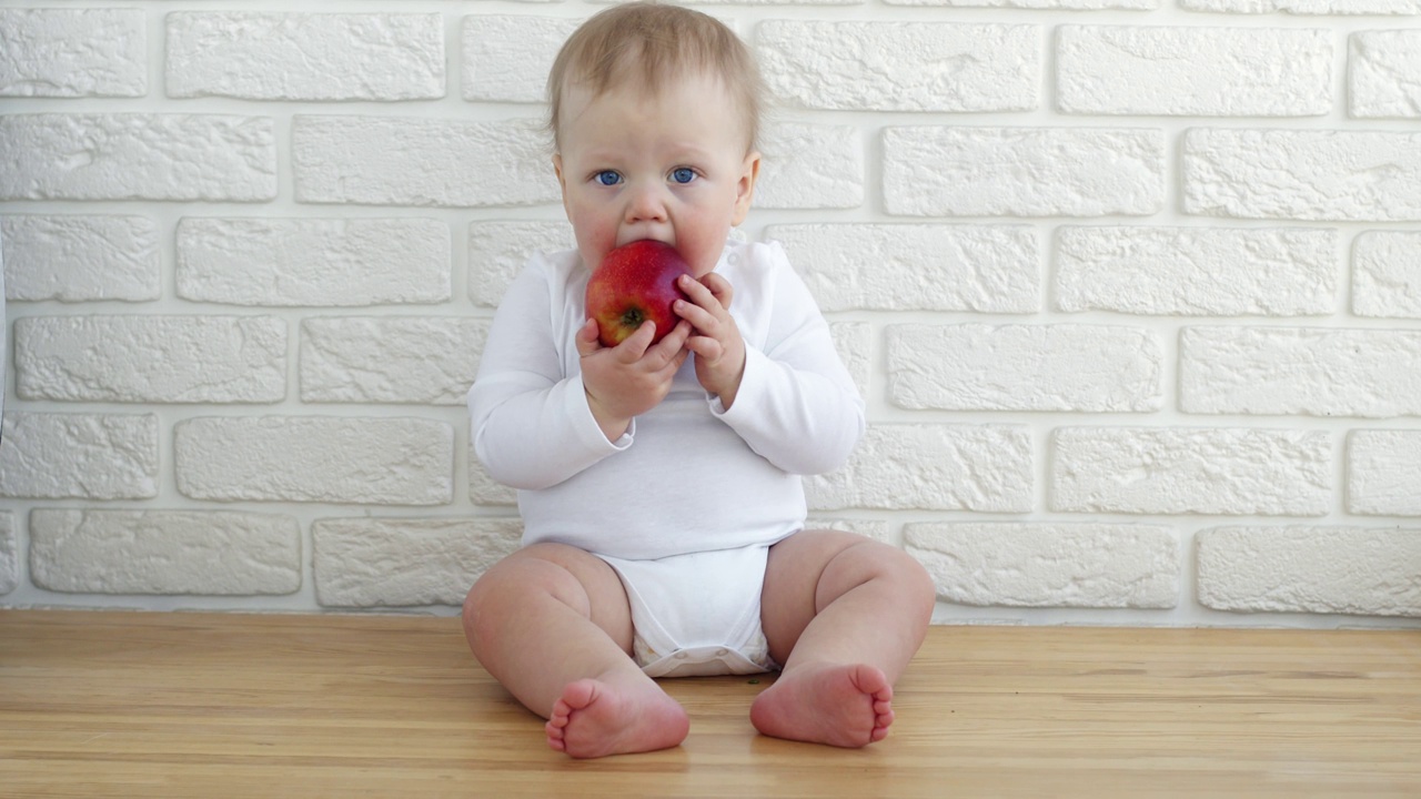
{"type": "Polygon", "coordinates": [[[549,719],[547,742],[574,758],[676,746],[686,712],[628,657],[631,610],[601,559],[534,545],[479,579],[463,604],[479,663],[549,719]]]}

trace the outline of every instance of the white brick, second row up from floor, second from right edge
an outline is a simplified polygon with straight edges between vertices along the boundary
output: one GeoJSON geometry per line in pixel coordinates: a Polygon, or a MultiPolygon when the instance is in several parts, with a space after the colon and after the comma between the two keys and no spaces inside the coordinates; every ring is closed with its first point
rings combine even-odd
{"type": "Polygon", "coordinates": [[[1322,516],[1331,510],[1324,431],[1059,428],[1052,510],[1322,516]]]}

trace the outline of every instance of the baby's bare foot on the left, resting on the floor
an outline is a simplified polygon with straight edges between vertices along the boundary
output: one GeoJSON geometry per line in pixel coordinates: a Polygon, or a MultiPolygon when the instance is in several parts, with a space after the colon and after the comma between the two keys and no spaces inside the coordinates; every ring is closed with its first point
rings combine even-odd
{"type": "Polygon", "coordinates": [[[563,688],[549,717],[547,745],[573,758],[669,749],[686,739],[691,719],[654,682],[630,688],[578,680],[563,688]]]}

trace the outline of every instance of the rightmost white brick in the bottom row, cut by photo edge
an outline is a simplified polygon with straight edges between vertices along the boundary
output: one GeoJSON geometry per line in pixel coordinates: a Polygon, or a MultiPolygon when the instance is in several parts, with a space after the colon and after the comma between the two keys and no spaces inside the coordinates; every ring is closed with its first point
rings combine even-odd
{"type": "Polygon", "coordinates": [[[1421,616],[1421,529],[1215,527],[1198,554],[1215,610],[1421,616]]]}

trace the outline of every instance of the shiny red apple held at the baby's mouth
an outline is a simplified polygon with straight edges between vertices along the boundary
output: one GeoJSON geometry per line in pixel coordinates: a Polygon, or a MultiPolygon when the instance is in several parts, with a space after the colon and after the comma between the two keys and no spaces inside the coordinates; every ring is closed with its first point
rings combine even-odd
{"type": "Polygon", "coordinates": [[[644,321],[657,323],[651,343],[671,333],[681,317],[672,310],[686,293],[676,279],[691,267],[675,247],[642,239],[607,253],[587,281],[587,317],[597,320],[603,347],[615,347],[637,333],[644,321]]]}

